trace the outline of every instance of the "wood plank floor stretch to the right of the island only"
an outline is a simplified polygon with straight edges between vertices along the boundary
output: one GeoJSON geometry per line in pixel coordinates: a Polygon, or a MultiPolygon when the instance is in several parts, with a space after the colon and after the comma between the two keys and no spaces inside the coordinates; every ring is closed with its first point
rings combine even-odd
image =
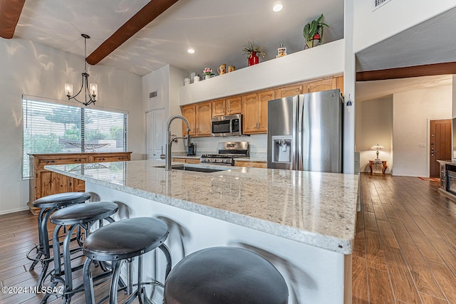
{"type": "Polygon", "coordinates": [[[456,203],[438,187],[361,174],[353,303],[456,303],[456,203]]]}

